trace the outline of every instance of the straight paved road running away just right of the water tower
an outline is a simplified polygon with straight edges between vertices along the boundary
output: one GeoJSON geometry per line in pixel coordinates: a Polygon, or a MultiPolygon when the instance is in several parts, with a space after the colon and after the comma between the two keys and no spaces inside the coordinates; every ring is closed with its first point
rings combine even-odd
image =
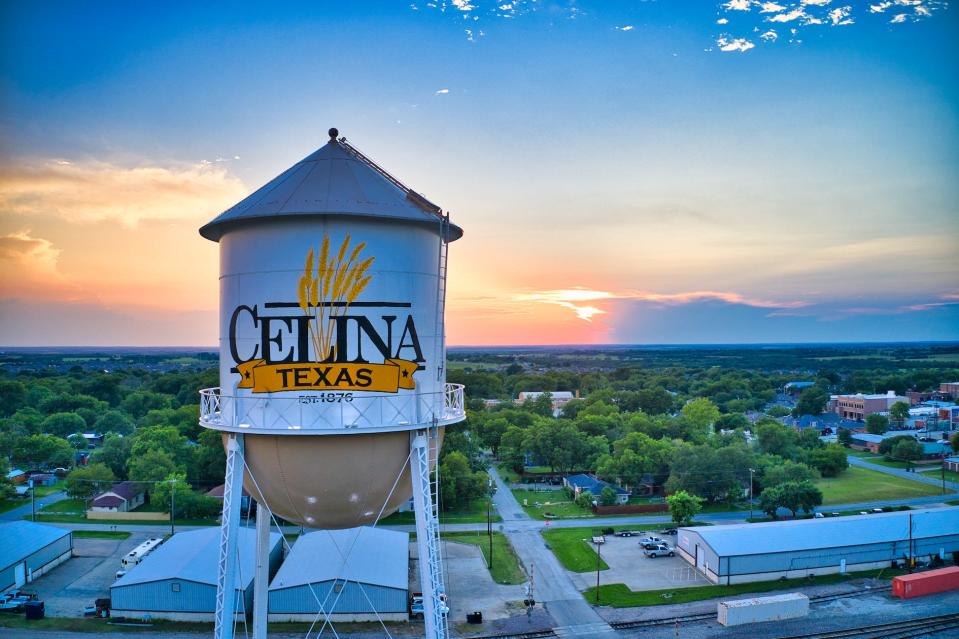
{"type": "MultiPolygon", "coordinates": [[[[491,467],[489,473],[500,487],[493,496],[493,505],[503,518],[503,532],[527,572],[533,573],[533,596],[553,617],[556,634],[581,639],[614,637],[609,624],[586,603],[566,569],[546,547],[539,534],[543,523],[529,518],[495,468],[491,467]]],[[[582,525],[582,522],[577,523],[582,525]]]]}

